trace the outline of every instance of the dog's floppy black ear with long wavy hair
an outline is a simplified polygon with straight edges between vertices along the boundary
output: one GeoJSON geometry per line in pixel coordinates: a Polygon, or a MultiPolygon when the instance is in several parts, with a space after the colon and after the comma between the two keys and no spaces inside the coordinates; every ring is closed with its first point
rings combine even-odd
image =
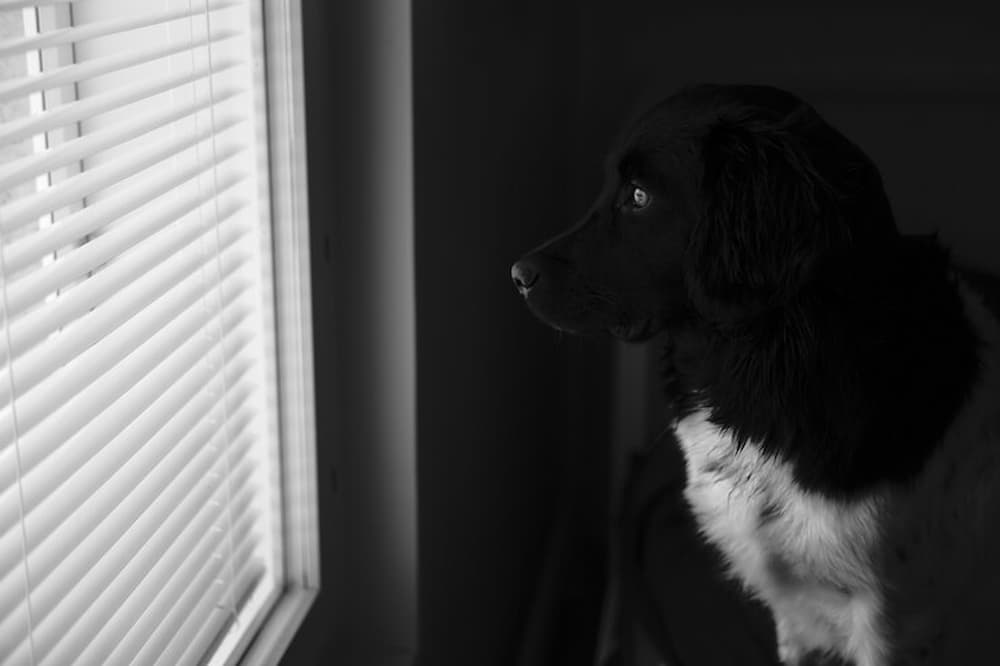
{"type": "Polygon", "coordinates": [[[685,273],[709,319],[733,321],[786,303],[849,236],[837,189],[800,128],[794,116],[723,119],[702,139],[702,209],[685,273]]]}

